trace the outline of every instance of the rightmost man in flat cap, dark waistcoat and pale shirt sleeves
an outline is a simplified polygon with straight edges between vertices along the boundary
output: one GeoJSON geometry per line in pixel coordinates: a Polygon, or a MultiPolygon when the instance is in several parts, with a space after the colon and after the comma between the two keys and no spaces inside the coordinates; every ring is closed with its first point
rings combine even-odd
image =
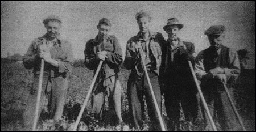
{"type": "MultiPolygon", "coordinates": [[[[217,118],[222,131],[237,131],[239,123],[226,96],[222,82],[232,86],[240,74],[240,62],[236,50],[224,46],[224,25],[213,25],[207,31],[210,47],[201,51],[195,62],[195,73],[212,117],[217,118]]],[[[232,93],[230,87],[229,92],[232,93]]],[[[209,119],[204,115],[205,121],[209,119]]],[[[211,129],[211,127],[208,127],[211,129]]]]}

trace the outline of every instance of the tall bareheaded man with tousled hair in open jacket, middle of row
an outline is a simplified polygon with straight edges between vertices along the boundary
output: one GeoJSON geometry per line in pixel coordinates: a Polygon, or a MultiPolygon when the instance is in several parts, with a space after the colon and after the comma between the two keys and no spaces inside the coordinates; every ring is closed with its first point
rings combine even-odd
{"type": "Polygon", "coordinates": [[[141,59],[146,63],[147,72],[150,77],[150,82],[153,87],[156,102],[158,103],[159,111],[162,112],[161,91],[159,86],[159,68],[161,64],[161,46],[165,42],[161,33],[150,31],[151,17],[147,12],[140,11],[135,16],[139,32],[136,36],[131,37],[127,42],[126,56],[124,66],[126,69],[131,69],[131,74],[127,83],[127,96],[129,99],[129,112],[133,120],[132,124],[135,129],[146,129],[143,126],[144,102],[145,95],[148,116],[150,117],[151,131],[159,131],[160,123],[158,114],[152,100],[150,87],[144,73],[141,59]],[[143,56],[139,56],[139,48],[143,52],[143,56]]]}

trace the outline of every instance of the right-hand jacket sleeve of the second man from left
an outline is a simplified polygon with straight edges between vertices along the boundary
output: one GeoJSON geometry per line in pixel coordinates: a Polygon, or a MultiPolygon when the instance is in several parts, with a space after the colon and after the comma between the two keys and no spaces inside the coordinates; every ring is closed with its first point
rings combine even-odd
{"type": "Polygon", "coordinates": [[[114,52],[108,52],[106,56],[108,59],[106,59],[107,62],[113,63],[115,65],[120,65],[123,61],[122,59],[122,48],[121,45],[119,44],[118,40],[115,38],[113,40],[113,45],[114,45],[114,52]]]}

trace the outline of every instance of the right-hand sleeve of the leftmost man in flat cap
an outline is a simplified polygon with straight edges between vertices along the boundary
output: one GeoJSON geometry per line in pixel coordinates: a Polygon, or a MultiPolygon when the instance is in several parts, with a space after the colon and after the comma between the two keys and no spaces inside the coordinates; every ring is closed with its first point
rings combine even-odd
{"type": "Polygon", "coordinates": [[[73,69],[73,50],[72,44],[68,42],[68,49],[66,50],[66,57],[63,60],[57,60],[59,62],[59,73],[71,73],[73,69]]]}

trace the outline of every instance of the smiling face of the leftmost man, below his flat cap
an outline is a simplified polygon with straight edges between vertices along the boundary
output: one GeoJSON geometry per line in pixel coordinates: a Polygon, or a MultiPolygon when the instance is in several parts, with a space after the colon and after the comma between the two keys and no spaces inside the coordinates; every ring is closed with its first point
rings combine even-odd
{"type": "Polygon", "coordinates": [[[50,37],[55,38],[60,32],[60,23],[50,21],[46,25],[47,33],[50,37]]]}

